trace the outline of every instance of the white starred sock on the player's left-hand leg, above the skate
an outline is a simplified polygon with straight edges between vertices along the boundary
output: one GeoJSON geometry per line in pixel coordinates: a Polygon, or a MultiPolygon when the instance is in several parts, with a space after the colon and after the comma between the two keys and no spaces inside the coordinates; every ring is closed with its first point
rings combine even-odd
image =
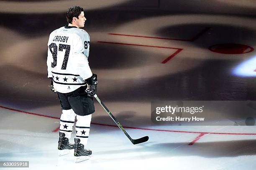
{"type": "Polygon", "coordinates": [[[67,137],[68,139],[70,139],[71,137],[75,116],[76,114],[74,114],[74,111],[72,109],[62,110],[59,131],[64,133],[65,137],[67,137]]]}

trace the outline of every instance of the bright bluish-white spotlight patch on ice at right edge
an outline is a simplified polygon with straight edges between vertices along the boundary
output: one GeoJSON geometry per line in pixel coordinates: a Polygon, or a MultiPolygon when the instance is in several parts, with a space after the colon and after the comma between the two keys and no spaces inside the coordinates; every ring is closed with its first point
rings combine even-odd
{"type": "Polygon", "coordinates": [[[233,74],[242,77],[256,77],[256,56],[243,61],[235,69],[233,69],[233,74]]]}

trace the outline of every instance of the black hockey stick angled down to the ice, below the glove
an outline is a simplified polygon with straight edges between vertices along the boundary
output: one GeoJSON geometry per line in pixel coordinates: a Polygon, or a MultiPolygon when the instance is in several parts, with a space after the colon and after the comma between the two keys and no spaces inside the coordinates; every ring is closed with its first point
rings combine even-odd
{"type": "Polygon", "coordinates": [[[109,109],[105,106],[105,104],[100,101],[99,97],[97,96],[97,94],[94,95],[95,99],[100,103],[100,105],[104,108],[104,110],[108,113],[108,115],[113,119],[113,121],[115,122],[115,124],[118,125],[118,127],[123,131],[123,133],[128,137],[128,139],[133,143],[133,145],[139,144],[139,143],[143,143],[143,142],[147,142],[148,141],[148,136],[144,136],[141,137],[139,139],[132,139],[130,137],[130,135],[125,131],[125,129],[122,127],[122,125],[117,121],[117,119],[115,119],[115,117],[113,116],[113,114],[111,114],[111,112],[109,111],[109,109]]]}

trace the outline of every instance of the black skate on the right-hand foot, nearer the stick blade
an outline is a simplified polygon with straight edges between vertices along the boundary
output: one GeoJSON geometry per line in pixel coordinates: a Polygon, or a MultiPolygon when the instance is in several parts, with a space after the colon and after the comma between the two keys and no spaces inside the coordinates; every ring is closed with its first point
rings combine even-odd
{"type": "Polygon", "coordinates": [[[84,149],[84,145],[80,143],[80,139],[74,138],[74,156],[75,162],[81,162],[90,159],[92,155],[91,150],[84,149]]]}

